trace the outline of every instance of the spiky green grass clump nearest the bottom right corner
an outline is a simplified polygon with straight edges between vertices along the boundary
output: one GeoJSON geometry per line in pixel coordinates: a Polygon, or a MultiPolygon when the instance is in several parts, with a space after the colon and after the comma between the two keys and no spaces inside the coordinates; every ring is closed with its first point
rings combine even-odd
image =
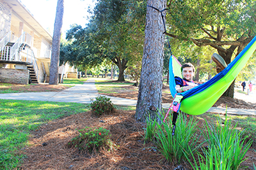
{"type": "Polygon", "coordinates": [[[244,131],[237,130],[237,124],[232,126],[231,121],[227,120],[227,114],[223,125],[221,122],[221,118],[216,124],[205,121],[207,131],[204,133],[204,138],[208,148],[202,148],[204,154],[198,153],[199,165],[194,165],[193,169],[235,170],[239,169],[241,163],[246,160],[244,155],[252,145],[252,140],[245,143],[247,137],[243,138],[244,131]]]}

